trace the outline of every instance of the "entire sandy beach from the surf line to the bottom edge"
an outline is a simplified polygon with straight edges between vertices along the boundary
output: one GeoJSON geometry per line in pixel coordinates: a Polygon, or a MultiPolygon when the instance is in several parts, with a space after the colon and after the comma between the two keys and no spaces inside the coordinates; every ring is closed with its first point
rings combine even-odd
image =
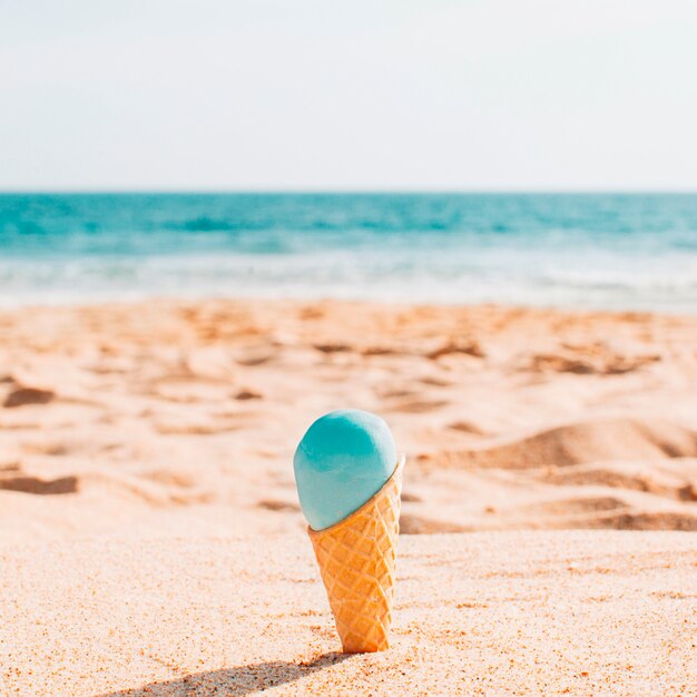
{"type": "Polygon", "coordinates": [[[697,318],[149,301],[0,335],[0,694],[697,694],[697,318]],[[394,646],[350,658],[292,471],[344,406],[408,458],[394,646]]]}

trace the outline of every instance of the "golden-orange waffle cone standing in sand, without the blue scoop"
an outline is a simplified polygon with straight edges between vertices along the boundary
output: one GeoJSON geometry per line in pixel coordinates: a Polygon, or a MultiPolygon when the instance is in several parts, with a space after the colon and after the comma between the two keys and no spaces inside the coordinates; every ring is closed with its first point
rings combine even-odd
{"type": "Polygon", "coordinates": [[[404,458],[357,511],[307,532],[346,654],[390,647],[404,458]]]}

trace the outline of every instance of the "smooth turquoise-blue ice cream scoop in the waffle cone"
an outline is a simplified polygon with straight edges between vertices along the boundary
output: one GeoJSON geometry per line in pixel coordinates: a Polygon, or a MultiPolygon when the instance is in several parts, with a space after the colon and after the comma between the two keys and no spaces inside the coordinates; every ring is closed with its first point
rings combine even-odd
{"type": "Polygon", "coordinates": [[[345,409],[310,426],[293,467],[303,513],[313,530],[324,530],[382,489],[396,467],[396,448],[380,416],[345,409]]]}

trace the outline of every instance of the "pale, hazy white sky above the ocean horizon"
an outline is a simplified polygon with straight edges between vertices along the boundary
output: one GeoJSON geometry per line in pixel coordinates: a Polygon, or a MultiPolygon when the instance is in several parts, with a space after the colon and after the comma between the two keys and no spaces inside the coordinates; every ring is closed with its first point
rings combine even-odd
{"type": "Polygon", "coordinates": [[[697,190],[694,0],[0,0],[0,189],[697,190]]]}

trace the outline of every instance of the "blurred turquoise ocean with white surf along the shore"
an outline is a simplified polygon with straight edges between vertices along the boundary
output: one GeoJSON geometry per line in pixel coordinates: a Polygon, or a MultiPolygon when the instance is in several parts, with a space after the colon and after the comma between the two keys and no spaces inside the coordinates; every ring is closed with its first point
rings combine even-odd
{"type": "Polygon", "coordinates": [[[695,313],[697,195],[0,195],[0,304],[148,296],[695,313]]]}

